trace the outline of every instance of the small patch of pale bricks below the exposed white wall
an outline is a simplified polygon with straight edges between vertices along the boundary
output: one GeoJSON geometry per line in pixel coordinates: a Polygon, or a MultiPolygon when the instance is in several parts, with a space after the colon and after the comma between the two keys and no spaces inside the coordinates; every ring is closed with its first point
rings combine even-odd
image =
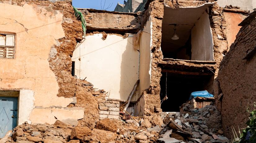
{"type": "Polygon", "coordinates": [[[99,100],[98,104],[100,120],[105,118],[119,119],[119,101],[99,100]]]}

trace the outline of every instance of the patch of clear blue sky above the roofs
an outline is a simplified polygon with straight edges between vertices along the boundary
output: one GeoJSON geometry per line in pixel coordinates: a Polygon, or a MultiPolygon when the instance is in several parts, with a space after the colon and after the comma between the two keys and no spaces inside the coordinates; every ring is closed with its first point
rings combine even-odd
{"type": "MultiPolygon", "coordinates": [[[[73,6],[76,8],[93,8],[96,10],[101,10],[101,7],[103,8],[104,1],[105,0],[102,0],[102,6],[101,0],[73,0],[72,3],[73,6]]],[[[113,11],[118,2],[123,4],[124,0],[106,0],[104,9],[106,9],[109,4],[111,6],[111,4],[113,3],[113,5],[109,9],[107,9],[108,11],[113,11]]]]}

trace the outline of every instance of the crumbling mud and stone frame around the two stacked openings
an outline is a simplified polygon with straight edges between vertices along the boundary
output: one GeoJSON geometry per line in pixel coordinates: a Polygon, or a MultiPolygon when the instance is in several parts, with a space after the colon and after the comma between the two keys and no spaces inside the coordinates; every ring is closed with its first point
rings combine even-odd
{"type": "MultiPolygon", "coordinates": [[[[214,65],[215,77],[218,75],[218,66],[223,58],[223,54],[227,52],[227,40],[225,35],[226,30],[226,21],[222,13],[222,8],[218,6],[218,4],[214,1],[211,2],[212,6],[209,7],[209,19],[210,26],[213,35],[213,55],[216,64],[214,65]],[[217,11],[219,14],[213,14],[213,10],[217,11]],[[221,35],[223,38],[219,39],[218,35],[221,35]]],[[[206,1],[202,2],[193,2],[193,3],[180,3],[182,7],[196,7],[206,3],[206,1]]],[[[145,99],[145,107],[144,113],[147,115],[154,115],[152,112],[155,108],[160,107],[160,78],[161,78],[161,67],[159,66],[159,62],[163,59],[163,54],[161,51],[161,38],[162,38],[162,21],[164,14],[164,6],[169,6],[175,9],[175,6],[178,6],[176,3],[171,2],[171,0],[154,0],[149,3],[150,16],[152,18],[152,62],[151,62],[151,80],[150,80],[150,88],[147,90],[147,93],[144,94],[145,99]],[[151,112],[150,112],[151,111],[151,112]]],[[[209,92],[213,93],[213,80],[209,82],[209,92]]],[[[147,116],[146,118],[151,118],[152,116],[147,116]]]]}

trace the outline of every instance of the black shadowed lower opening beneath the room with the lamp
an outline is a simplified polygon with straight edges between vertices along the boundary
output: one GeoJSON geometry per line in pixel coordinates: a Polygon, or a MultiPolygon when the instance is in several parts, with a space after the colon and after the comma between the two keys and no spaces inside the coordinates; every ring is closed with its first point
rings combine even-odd
{"type": "Polygon", "coordinates": [[[162,70],[160,98],[163,112],[180,112],[181,105],[188,101],[192,92],[206,90],[211,77],[162,70]],[[163,100],[165,96],[167,100],[163,100]]]}

